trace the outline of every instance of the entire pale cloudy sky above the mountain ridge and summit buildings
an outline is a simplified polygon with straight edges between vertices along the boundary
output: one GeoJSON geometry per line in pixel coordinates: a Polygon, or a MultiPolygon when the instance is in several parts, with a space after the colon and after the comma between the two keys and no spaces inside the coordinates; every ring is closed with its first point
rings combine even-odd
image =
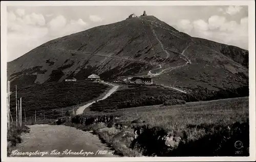
{"type": "Polygon", "coordinates": [[[49,40],[124,20],[154,15],[194,37],[248,49],[247,6],[7,7],[7,54],[14,60],[49,40]]]}

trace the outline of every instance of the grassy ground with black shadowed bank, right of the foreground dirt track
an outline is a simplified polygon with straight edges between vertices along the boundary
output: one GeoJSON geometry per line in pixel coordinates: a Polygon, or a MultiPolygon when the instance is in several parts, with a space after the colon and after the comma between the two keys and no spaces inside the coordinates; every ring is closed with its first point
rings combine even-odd
{"type": "MultiPolygon", "coordinates": [[[[244,97],[125,108],[105,113],[119,116],[114,123],[125,126],[122,129],[102,123],[79,127],[93,129],[124,156],[248,156],[248,104],[248,97],[244,97]],[[140,130],[136,139],[135,130],[140,130]],[[167,147],[159,141],[167,133],[181,137],[178,147],[167,147]],[[244,148],[234,148],[236,141],[242,141],[244,148]]],[[[97,115],[93,111],[87,115],[90,113],[97,115]]]]}

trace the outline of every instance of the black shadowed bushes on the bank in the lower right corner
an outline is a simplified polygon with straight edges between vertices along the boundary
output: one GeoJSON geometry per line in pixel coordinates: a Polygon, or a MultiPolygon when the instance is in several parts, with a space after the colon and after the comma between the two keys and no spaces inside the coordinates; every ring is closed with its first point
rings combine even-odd
{"type": "Polygon", "coordinates": [[[164,141],[159,140],[159,136],[165,135],[167,131],[161,127],[138,127],[135,130],[139,136],[132,142],[131,148],[140,150],[145,156],[249,156],[248,120],[229,126],[202,124],[195,125],[194,128],[204,129],[206,134],[197,140],[187,141],[187,133],[182,131],[180,144],[171,149],[164,141]],[[243,147],[234,147],[237,141],[241,141],[243,147]]]}

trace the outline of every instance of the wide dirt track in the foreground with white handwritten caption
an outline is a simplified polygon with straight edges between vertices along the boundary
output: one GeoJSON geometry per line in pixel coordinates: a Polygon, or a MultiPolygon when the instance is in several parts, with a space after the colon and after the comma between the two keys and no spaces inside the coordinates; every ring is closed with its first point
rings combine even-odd
{"type": "MultiPolygon", "coordinates": [[[[30,133],[23,134],[23,142],[16,146],[13,150],[18,152],[48,152],[48,155],[42,157],[117,157],[111,155],[113,153],[110,148],[102,144],[97,135],[90,132],[67,127],[64,125],[31,125],[30,133]],[[53,150],[60,152],[59,155],[51,155],[53,150]],[[67,152],[63,154],[63,151],[67,152]],[[68,152],[94,152],[94,155],[72,155],[68,152]],[[104,155],[98,154],[99,151],[107,152],[104,155]],[[95,153],[98,153],[95,155],[95,153]]],[[[11,155],[12,157],[20,157],[20,155],[11,155]]],[[[28,155],[23,156],[28,157],[28,155]]],[[[41,157],[41,155],[32,155],[30,157],[41,157]]]]}

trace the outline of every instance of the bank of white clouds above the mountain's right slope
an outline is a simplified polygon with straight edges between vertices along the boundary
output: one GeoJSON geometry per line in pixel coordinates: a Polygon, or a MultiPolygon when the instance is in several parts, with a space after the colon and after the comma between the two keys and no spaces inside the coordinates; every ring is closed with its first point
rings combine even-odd
{"type": "Polygon", "coordinates": [[[248,17],[241,18],[240,22],[227,21],[225,17],[218,15],[210,16],[208,22],[202,19],[193,22],[182,19],[177,22],[177,28],[194,37],[248,49],[248,17]]]}

